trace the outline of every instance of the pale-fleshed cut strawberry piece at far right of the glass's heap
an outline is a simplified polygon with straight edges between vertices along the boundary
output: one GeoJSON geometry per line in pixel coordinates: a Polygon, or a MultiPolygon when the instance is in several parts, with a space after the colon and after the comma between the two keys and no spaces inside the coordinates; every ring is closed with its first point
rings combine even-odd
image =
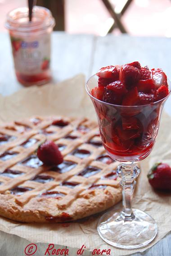
{"type": "Polygon", "coordinates": [[[152,77],[156,88],[159,88],[162,85],[168,87],[166,74],[162,69],[152,69],[152,77]]]}

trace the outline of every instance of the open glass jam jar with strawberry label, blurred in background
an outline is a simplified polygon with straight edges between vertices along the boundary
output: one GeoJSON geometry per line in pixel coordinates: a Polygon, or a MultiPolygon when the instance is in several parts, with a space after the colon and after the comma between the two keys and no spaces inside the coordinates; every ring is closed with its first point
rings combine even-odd
{"type": "Polygon", "coordinates": [[[23,85],[49,82],[50,36],[55,25],[49,9],[34,6],[29,22],[28,8],[14,9],[7,15],[17,79],[23,85]]]}

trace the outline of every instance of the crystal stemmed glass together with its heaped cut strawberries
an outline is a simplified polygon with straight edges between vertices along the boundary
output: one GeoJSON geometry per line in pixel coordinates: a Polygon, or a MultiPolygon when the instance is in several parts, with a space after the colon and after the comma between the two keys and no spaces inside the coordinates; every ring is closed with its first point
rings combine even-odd
{"type": "Polygon", "coordinates": [[[131,199],[140,169],[137,162],[153,149],[170,82],[162,69],[141,67],[138,61],[100,69],[86,83],[99,131],[108,155],[120,161],[123,209],[107,212],[98,224],[100,237],[125,249],[144,247],[157,234],[155,220],[132,209],[131,199]]]}

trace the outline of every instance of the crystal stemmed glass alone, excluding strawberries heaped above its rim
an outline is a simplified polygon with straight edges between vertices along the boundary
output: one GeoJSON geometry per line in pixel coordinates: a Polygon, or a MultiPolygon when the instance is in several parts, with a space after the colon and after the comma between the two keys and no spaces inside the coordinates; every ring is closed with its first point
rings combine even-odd
{"type": "Polygon", "coordinates": [[[156,237],[157,224],[147,213],[132,209],[135,179],[140,172],[136,163],[152,151],[163,104],[170,93],[152,104],[122,106],[94,98],[90,91],[97,85],[98,77],[93,75],[86,83],[86,91],[94,104],[103,146],[113,160],[121,162],[117,174],[121,178],[123,198],[120,212],[110,211],[99,219],[98,233],[105,242],[115,247],[144,247],[156,237]]]}

